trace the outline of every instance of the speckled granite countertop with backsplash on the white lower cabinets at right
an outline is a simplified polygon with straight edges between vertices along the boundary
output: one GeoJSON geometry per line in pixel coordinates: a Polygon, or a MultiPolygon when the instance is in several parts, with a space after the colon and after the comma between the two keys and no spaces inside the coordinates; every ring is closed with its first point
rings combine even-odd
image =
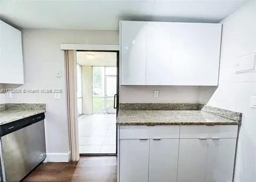
{"type": "Polygon", "coordinates": [[[117,125],[239,125],[242,114],[207,106],[202,110],[119,110],[117,125]],[[207,110],[207,111],[206,111],[207,110]],[[220,113],[221,116],[220,116],[220,113]],[[226,115],[227,113],[227,115],[226,115]]]}

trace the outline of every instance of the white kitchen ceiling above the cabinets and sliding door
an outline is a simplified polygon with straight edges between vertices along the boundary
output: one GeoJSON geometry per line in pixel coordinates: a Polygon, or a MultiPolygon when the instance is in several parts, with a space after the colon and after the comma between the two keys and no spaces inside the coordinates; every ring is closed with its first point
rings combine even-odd
{"type": "Polygon", "coordinates": [[[119,20],[220,22],[246,2],[0,0],[0,18],[18,28],[118,30],[119,20]]]}

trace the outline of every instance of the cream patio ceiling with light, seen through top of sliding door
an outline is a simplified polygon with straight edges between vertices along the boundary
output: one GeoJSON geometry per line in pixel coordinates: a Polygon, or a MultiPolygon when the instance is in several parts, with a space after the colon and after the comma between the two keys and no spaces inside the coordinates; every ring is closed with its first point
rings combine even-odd
{"type": "Polygon", "coordinates": [[[113,52],[77,51],[76,60],[82,66],[116,66],[117,57],[113,52]],[[93,58],[87,55],[94,55],[93,58]]]}

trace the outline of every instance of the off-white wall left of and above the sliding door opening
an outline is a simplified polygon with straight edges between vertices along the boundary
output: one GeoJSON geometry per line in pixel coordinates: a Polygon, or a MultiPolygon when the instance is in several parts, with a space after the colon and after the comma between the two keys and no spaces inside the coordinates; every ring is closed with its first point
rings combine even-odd
{"type": "MultiPolygon", "coordinates": [[[[22,89],[62,89],[60,100],[53,93],[12,94],[6,102],[46,103],[46,150],[52,161],[65,161],[69,152],[65,59],[62,43],[118,44],[117,31],[22,30],[25,84],[22,89]],[[62,77],[55,77],[57,71],[62,77]],[[67,154],[67,155],[66,155],[67,154]]],[[[1,96],[2,97],[2,96],[1,96]]],[[[1,98],[0,98],[1,99],[1,98]]]]}

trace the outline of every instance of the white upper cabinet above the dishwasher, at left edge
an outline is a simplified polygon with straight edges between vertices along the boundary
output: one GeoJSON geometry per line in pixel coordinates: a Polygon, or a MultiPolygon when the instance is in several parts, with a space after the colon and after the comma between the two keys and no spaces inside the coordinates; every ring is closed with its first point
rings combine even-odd
{"type": "Polygon", "coordinates": [[[0,20],[0,83],[23,84],[21,31],[0,20]]]}

